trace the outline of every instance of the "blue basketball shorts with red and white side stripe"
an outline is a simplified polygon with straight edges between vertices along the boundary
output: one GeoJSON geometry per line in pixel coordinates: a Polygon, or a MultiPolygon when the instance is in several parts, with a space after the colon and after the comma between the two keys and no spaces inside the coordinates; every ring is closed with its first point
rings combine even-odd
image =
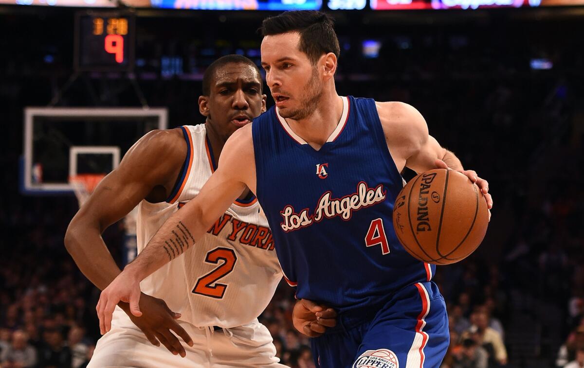
{"type": "Polygon", "coordinates": [[[311,348],[321,368],[432,368],[449,342],[446,304],[430,281],[399,290],[370,321],[311,339],[311,348]]]}

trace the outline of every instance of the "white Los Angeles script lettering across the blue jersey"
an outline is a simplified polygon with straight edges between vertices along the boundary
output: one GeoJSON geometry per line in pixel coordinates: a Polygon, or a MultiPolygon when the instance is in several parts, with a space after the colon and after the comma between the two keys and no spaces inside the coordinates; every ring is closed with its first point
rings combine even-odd
{"type": "Polygon", "coordinates": [[[317,207],[312,214],[308,208],[296,213],[293,206],[285,206],[280,211],[284,220],[280,223],[280,227],[287,233],[310,226],[314,222],[320,222],[324,218],[332,219],[340,216],[343,220],[348,221],[353,216],[354,211],[385,201],[386,194],[387,191],[383,184],[370,188],[364,181],[357,184],[356,192],[342,198],[332,198],[332,192],[327,191],[318,199],[317,207]]]}

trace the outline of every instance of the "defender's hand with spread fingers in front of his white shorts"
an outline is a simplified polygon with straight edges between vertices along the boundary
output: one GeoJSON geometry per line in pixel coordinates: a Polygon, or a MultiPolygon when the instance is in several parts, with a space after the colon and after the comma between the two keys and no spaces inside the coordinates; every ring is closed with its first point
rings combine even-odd
{"type": "Polygon", "coordinates": [[[141,293],[141,317],[135,317],[130,312],[129,304],[120,302],[118,305],[130,316],[130,320],[144,332],[144,335],[152,345],[160,346],[162,343],[169,352],[174,355],[178,354],[183,358],[186,356],[185,348],[180,344],[175,334],[182,338],[186,344],[193,346],[193,340],[189,334],[176,322],[180,318],[180,313],[171,311],[164,300],[141,293]]]}

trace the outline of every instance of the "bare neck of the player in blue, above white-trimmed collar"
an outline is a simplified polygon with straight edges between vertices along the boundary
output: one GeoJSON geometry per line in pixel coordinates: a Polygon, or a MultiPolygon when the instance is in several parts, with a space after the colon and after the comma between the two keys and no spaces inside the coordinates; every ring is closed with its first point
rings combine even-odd
{"type": "Polygon", "coordinates": [[[335,131],[343,114],[343,100],[336,89],[324,91],[316,110],[301,120],[286,119],[290,128],[314,149],[320,149],[335,131]]]}

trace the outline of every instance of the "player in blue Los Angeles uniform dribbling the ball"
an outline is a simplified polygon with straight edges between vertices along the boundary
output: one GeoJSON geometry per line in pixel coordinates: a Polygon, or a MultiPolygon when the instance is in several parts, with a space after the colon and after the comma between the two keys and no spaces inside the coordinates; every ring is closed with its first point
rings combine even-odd
{"type": "Polygon", "coordinates": [[[459,170],[491,208],[488,183],[463,170],[412,106],[336,93],[339,43],[329,16],[286,12],[265,19],[261,30],[276,106],[228,140],[197,198],[102,292],[100,320],[107,323],[119,300],[136,305],[139,282],[176,257],[165,250],[173,230],[188,229],[196,247],[249,187],[297,297],[339,311],[337,327],[311,339],[318,366],[438,367],[449,345],[446,307],[431,281],[434,265],[406,253],[392,227],[400,173],[459,170]]]}

